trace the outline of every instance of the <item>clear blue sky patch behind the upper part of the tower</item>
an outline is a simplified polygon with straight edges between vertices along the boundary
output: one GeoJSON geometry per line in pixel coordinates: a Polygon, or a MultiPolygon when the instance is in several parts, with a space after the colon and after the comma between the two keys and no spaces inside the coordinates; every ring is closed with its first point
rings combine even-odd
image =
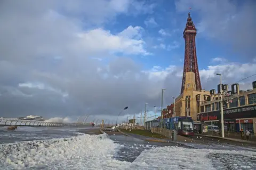
{"type": "MultiPolygon", "coordinates": [[[[229,2],[232,5],[237,5],[237,11],[241,10],[241,5],[244,5],[242,2],[229,2]]],[[[150,69],[153,66],[168,67],[170,64],[183,66],[185,42],[182,33],[186,26],[189,6],[187,7],[187,11],[180,12],[176,9],[175,1],[158,1],[155,3],[156,7],[153,13],[141,15],[121,14],[116,18],[115,22],[107,24],[105,28],[110,30],[113,34],[119,33],[129,26],[140,26],[145,29],[142,33],[142,37],[146,39],[147,50],[154,55],[146,56],[147,59],[141,56],[133,56],[135,61],[143,63],[144,69],[150,69]],[[161,35],[159,33],[160,30],[164,30],[167,36],[161,35]],[[177,46],[171,50],[166,50],[161,47],[155,49],[154,46],[160,43],[166,46],[177,44],[177,46]]],[[[191,9],[190,13],[199,32],[196,36],[199,69],[207,69],[207,66],[212,64],[211,60],[218,57],[223,57],[233,62],[248,61],[241,58],[243,52],[236,52],[232,49],[233,47],[230,47],[230,42],[225,41],[223,43],[218,41],[218,39],[205,36],[205,33],[201,32],[202,30],[197,27],[202,21],[201,12],[191,9]]],[[[210,19],[211,18],[209,18],[209,20],[210,19]]],[[[221,27],[219,29],[221,29],[221,27]]],[[[251,57],[253,58],[253,56],[251,57]]]]}

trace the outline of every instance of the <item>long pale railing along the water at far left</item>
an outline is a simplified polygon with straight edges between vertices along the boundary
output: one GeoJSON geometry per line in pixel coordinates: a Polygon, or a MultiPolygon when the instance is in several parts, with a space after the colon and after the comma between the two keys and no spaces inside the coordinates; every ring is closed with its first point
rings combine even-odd
{"type": "Polygon", "coordinates": [[[90,124],[81,123],[56,123],[56,122],[39,122],[29,120],[1,120],[0,126],[91,126],[90,124]]]}

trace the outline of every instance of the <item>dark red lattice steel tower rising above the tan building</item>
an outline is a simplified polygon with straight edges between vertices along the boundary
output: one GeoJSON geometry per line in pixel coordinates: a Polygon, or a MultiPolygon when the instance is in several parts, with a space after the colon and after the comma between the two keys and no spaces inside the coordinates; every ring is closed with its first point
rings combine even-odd
{"type": "Polygon", "coordinates": [[[196,90],[202,90],[196,56],[196,28],[190,17],[190,12],[188,12],[188,19],[183,31],[183,37],[185,39],[185,59],[180,94],[182,94],[185,89],[186,72],[190,71],[195,73],[196,90]]]}

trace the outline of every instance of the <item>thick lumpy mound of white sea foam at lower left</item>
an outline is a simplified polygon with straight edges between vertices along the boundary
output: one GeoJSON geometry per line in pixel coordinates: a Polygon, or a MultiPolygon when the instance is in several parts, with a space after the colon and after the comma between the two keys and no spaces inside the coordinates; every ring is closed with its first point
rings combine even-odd
{"type": "Polygon", "coordinates": [[[98,169],[111,161],[118,146],[107,134],[1,144],[0,165],[11,169],[98,169]]]}

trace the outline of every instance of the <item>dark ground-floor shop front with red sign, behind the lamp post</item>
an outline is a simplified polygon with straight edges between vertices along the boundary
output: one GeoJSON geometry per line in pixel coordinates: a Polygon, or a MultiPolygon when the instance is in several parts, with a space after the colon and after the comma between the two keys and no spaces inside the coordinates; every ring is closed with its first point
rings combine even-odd
{"type": "MultiPolygon", "coordinates": [[[[249,129],[254,133],[256,129],[256,104],[253,106],[244,106],[229,108],[223,110],[225,131],[239,132],[241,128],[249,129]]],[[[201,123],[212,122],[220,127],[220,110],[203,112],[197,114],[197,120],[201,123]],[[219,121],[218,121],[219,120],[219,121]]]]}

